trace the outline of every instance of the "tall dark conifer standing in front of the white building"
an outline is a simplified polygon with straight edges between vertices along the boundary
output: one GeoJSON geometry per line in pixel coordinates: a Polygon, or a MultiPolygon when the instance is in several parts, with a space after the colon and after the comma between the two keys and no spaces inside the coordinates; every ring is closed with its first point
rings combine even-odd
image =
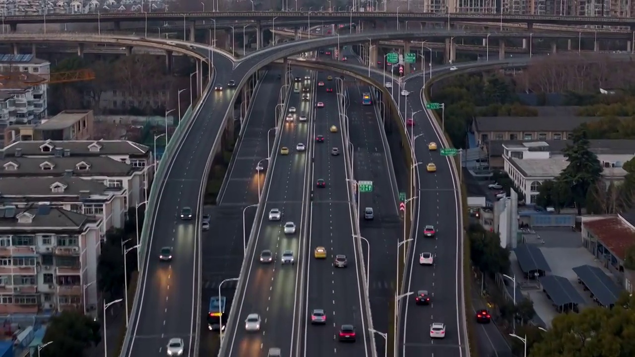
{"type": "Polygon", "coordinates": [[[569,165],[559,175],[559,180],[571,189],[578,215],[582,215],[587,191],[598,183],[603,170],[598,156],[589,149],[590,145],[586,131],[575,131],[573,145],[567,145],[564,150],[569,165]]]}

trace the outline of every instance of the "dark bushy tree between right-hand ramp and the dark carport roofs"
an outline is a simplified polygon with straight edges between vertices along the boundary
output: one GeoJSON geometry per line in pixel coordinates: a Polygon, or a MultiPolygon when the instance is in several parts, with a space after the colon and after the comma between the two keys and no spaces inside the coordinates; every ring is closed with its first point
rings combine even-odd
{"type": "Polygon", "coordinates": [[[474,266],[490,276],[509,270],[509,251],[500,246],[498,233],[486,231],[480,224],[471,224],[468,235],[474,266]]]}

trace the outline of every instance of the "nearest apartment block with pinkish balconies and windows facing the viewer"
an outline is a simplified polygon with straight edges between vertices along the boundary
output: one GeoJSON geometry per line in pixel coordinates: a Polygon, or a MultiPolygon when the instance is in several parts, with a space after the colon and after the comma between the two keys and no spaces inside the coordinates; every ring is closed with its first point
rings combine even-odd
{"type": "Polygon", "coordinates": [[[97,306],[99,224],[46,204],[0,206],[0,314],[97,306]]]}

